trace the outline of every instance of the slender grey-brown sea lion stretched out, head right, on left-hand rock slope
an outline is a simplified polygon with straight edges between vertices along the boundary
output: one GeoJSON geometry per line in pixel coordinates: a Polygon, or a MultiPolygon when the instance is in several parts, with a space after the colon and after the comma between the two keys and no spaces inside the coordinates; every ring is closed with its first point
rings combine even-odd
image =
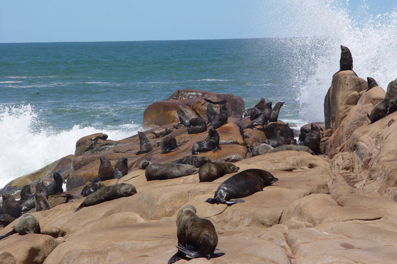
{"type": "Polygon", "coordinates": [[[116,183],[113,185],[109,185],[102,189],[99,189],[98,191],[92,194],[87,195],[85,200],[76,209],[76,211],[79,211],[83,207],[97,205],[120,197],[132,196],[135,193],[136,193],[135,186],[129,183],[116,183]]]}

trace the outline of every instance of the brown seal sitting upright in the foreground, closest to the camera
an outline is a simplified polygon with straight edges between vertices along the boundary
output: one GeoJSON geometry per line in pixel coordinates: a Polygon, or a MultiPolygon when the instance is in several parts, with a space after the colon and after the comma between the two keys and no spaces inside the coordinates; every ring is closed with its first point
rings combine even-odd
{"type": "Polygon", "coordinates": [[[200,218],[192,205],[185,205],[177,216],[178,252],[170,258],[168,264],[173,264],[186,255],[191,258],[217,258],[224,253],[214,253],[218,244],[218,235],[212,222],[200,218]],[[193,250],[191,250],[193,248],[193,250]]]}

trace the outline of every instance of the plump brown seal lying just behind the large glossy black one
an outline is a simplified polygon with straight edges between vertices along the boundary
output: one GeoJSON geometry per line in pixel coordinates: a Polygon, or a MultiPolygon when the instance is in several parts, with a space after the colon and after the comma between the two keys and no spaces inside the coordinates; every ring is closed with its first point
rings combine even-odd
{"type": "Polygon", "coordinates": [[[199,179],[203,181],[213,181],[228,173],[237,172],[240,168],[230,162],[211,161],[199,168],[199,179]]]}

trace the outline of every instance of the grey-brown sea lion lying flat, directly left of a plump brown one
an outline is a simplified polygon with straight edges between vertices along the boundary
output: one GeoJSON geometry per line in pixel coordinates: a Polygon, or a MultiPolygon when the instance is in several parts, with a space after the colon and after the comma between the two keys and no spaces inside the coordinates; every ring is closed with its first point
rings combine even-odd
{"type": "Polygon", "coordinates": [[[199,171],[193,165],[152,163],[146,167],[145,176],[148,181],[179,178],[199,171]]]}

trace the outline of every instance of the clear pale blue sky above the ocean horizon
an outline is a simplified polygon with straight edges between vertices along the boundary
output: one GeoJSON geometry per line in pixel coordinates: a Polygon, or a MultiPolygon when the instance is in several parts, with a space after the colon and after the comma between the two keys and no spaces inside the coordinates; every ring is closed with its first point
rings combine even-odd
{"type": "Polygon", "coordinates": [[[0,0],[0,43],[288,37],[311,2],[397,11],[396,0],[0,0]]]}

